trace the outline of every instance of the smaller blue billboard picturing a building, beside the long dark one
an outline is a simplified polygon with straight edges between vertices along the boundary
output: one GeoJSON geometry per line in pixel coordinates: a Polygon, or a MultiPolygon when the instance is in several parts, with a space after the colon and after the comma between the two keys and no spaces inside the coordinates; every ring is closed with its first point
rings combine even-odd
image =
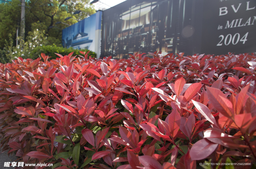
{"type": "Polygon", "coordinates": [[[63,47],[89,49],[100,56],[102,11],[62,30],[63,47]]]}

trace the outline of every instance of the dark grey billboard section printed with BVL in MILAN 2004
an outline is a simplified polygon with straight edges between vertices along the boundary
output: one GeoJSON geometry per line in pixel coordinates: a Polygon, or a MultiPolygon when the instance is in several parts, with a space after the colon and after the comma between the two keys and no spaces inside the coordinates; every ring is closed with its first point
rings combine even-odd
{"type": "Polygon", "coordinates": [[[202,53],[256,52],[256,1],[204,2],[202,53]]]}

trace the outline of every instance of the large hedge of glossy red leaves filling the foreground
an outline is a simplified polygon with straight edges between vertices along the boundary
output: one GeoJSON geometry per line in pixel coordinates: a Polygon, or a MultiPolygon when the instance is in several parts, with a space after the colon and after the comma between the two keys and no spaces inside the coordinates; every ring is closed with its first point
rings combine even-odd
{"type": "Polygon", "coordinates": [[[3,151],[59,169],[255,162],[255,53],[81,53],[0,65],[3,151]]]}

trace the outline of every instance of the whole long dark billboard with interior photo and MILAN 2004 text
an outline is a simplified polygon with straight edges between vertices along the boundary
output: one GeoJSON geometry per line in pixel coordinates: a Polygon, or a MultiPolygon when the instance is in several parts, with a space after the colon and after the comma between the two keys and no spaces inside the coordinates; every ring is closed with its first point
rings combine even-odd
{"type": "Polygon", "coordinates": [[[256,52],[255,3],[127,0],[103,11],[101,56],[121,59],[128,54],[160,50],[163,54],[185,55],[256,52]],[[238,27],[241,18],[243,27],[238,27]]]}

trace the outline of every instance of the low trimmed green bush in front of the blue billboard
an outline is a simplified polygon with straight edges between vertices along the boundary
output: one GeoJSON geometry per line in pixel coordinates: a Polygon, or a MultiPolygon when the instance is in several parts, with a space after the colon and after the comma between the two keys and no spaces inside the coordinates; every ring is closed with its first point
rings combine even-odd
{"type": "MultiPolygon", "coordinates": [[[[73,56],[75,55],[81,55],[79,51],[88,52],[88,49],[73,49],[73,48],[63,48],[58,47],[56,45],[47,45],[47,46],[37,46],[35,47],[28,55],[28,58],[36,59],[38,57],[41,57],[41,53],[45,53],[51,59],[56,59],[57,55],[55,53],[61,54],[62,56],[68,55],[71,52],[74,52],[73,56]]],[[[90,51],[88,53],[88,56],[96,57],[96,53],[90,51]]]]}

